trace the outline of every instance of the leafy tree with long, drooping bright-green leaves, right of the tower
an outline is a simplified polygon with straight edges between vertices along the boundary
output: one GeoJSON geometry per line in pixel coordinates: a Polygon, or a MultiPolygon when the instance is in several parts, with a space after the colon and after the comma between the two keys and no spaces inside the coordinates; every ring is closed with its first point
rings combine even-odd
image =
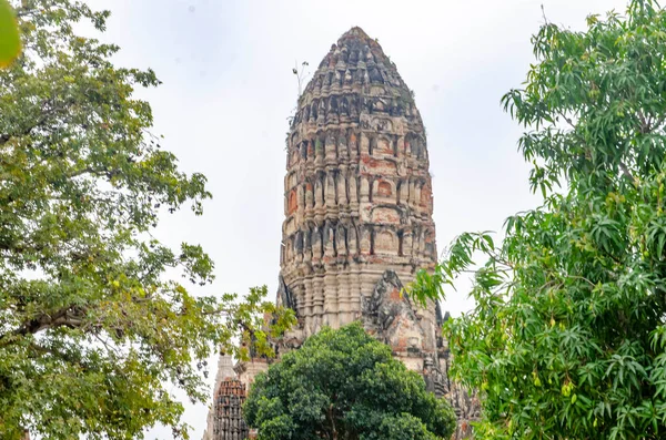
{"type": "Polygon", "coordinates": [[[666,12],[635,0],[584,32],[545,23],[533,43],[503,103],[544,204],[509,217],[498,247],[461,235],[413,293],[488,257],[447,331],[457,377],[483,390],[478,437],[663,439],[666,12]]]}

